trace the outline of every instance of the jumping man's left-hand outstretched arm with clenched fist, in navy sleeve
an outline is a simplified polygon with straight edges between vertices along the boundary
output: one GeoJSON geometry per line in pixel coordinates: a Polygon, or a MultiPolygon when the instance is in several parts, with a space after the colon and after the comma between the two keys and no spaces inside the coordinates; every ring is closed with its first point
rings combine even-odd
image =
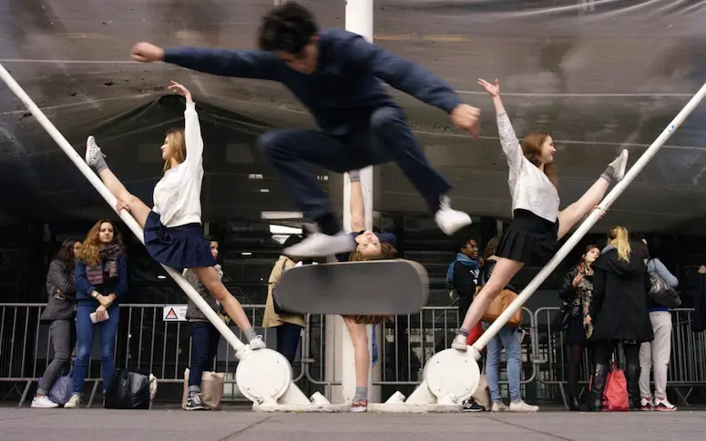
{"type": "Polygon", "coordinates": [[[163,49],[149,43],[132,48],[132,58],[142,63],[163,61],[211,75],[277,81],[282,62],[277,55],[261,50],[232,51],[201,47],[163,49]]]}

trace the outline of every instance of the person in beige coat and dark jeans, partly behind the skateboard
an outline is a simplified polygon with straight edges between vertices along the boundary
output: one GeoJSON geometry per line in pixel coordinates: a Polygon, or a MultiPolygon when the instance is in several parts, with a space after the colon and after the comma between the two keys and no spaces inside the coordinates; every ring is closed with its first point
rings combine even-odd
{"type": "MultiPolygon", "coordinates": [[[[302,242],[302,236],[292,235],[287,237],[283,247],[286,249],[300,242],[302,242]]],[[[262,327],[277,328],[277,352],[287,358],[290,365],[294,364],[294,357],[297,355],[297,348],[302,339],[302,329],[306,326],[306,322],[301,314],[289,314],[286,311],[281,311],[275,302],[274,292],[284,272],[299,262],[298,257],[281,255],[272,266],[270,278],[267,281],[265,314],[262,317],[262,327]]]]}

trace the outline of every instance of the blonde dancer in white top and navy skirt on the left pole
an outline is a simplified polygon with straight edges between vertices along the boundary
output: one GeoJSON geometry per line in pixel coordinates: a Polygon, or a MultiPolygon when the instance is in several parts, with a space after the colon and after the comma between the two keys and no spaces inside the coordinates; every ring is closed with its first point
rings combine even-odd
{"type": "Polygon", "coordinates": [[[251,349],[265,347],[255,333],[240,302],[223,286],[214,266],[209,243],[201,231],[201,183],[203,181],[203,140],[199,115],[189,90],[174,81],[169,89],[186,98],[184,129],[169,129],[160,147],[164,176],[155,185],[151,209],[128,192],[107,167],[105,155],[93,136],[86,143],[86,163],[93,167],[110,193],[118,199],[116,209],[135,218],[145,233],[149,256],[165,266],[189,268],[216,297],[230,318],[247,336],[251,349]]]}

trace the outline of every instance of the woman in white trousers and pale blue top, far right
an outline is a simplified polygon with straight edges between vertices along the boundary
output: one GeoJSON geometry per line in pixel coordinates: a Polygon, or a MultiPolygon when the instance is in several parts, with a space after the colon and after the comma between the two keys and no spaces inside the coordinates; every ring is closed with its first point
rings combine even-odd
{"type": "MultiPolygon", "coordinates": [[[[648,246],[647,239],[644,237],[642,243],[648,246]]],[[[655,289],[654,285],[660,284],[667,284],[672,288],[679,285],[677,277],[672,275],[658,258],[647,260],[647,272],[653,282],[652,289],[655,289]],[[661,280],[657,280],[657,284],[655,284],[657,277],[661,280]]],[[[650,296],[648,296],[647,305],[654,340],[639,346],[639,394],[642,396],[640,406],[642,410],[670,412],[677,410],[677,407],[667,399],[667,369],[670,366],[671,356],[670,308],[650,296]],[[650,371],[654,376],[654,399],[650,391],[650,371]]]]}

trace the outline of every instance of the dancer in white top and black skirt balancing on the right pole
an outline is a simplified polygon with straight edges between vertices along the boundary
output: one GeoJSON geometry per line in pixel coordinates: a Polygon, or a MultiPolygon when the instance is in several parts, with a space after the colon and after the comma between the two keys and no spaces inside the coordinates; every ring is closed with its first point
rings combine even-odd
{"type": "Polygon", "coordinates": [[[520,143],[500,100],[500,82],[496,80],[493,85],[479,79],[478,84],[486,89],[496,107],[497,131],[509,166],[507,183],[512,195],[513,221],[497,248],[493,275],[474,299],[451,345],[462,351],[467,348],[469,330],[520,268],[530,263],[546,264],[558,240],[599,204],[611,181],[623,178],[628,164],[628,151],[623,150],[578,201],[559,211],[554,165],[557,149],[551,136],[534,132],[520,143]]]}

